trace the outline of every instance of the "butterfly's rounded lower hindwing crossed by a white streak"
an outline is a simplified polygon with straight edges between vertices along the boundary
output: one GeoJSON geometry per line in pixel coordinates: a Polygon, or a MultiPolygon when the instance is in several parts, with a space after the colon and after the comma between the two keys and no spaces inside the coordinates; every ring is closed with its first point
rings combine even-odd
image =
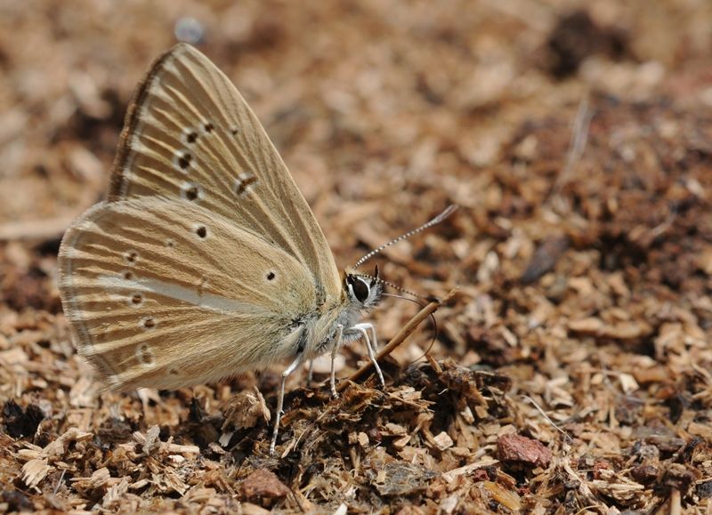
{"type": "Polygon", "coordinates": [[[303,264],[183,199],[94,206],[62,243],[61,294],[80,353],[109,386],[175,388],[293,354],[313,310],[303,264]]]}

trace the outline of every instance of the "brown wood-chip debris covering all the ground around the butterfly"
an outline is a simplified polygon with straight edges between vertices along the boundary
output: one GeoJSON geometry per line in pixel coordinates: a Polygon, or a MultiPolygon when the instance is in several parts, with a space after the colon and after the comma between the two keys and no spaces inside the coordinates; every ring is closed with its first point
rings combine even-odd
{"type": "MultiPolygon", "coordinates": [[[[706,0],[0,5],[0,512],[708,512],[710,48],[706,0]],[[278,456],[278,368],[100,393],[61,314],[61,233],[175,34],[341,265],[460,205],[379,261],[459,288],[437,334],[383,359],[384,390],[358,345],[340,398],[295,374],[278,456]]],[[[417,310],[384,302],[379,339],[417,310]]]]}

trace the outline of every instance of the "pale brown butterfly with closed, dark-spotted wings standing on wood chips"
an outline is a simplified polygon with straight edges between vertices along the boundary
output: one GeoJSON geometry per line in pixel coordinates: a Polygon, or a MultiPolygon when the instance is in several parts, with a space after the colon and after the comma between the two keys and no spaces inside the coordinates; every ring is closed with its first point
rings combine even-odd
{"type": "Polygon", "coordinates": [[[336,395],[336,351],[363,338],[383,384],[374,326],[359,320],[385,283],[355,272],[373,254],[339,273],[255,114],[205,55],[177,44],[135,93],[107,200],[62,239],[60,294],[79,354],[109,389],[175,389],[291,360],[273,452],[285,380],[305,360],[331,351],[336,395]]]}

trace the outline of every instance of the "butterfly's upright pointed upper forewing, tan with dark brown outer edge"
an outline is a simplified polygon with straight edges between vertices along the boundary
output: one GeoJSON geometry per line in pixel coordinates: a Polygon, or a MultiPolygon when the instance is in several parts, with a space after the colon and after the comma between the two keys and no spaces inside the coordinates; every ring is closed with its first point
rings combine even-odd
{"type": "Polygon", "coordinates": [[[278,246],[312,274],[318,303],[341,284],[326,237],[281,157],[230,80],[178,44],[136,93],[114,165],[109,202],[183,198],[278,246]]]}

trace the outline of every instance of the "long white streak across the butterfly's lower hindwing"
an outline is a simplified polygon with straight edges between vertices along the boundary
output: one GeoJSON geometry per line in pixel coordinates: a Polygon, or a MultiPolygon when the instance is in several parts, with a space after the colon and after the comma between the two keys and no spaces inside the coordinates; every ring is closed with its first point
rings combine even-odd
{"type": "Polygon", "coordinates": [[[158,294],[176,301],[188,302],[198,308],[205,310],[218,311],[226,313],[231,311],[246,311],[254,310],[254,306],[246,302],[233,301],[221,295],[214,294],[198,294],[196,288],[186,288],[157,279],[150,278],[134,278],[126,280],[125,278],[117,278],[113,276],[99,276],[97,282],[100,286],[112,290],[126,290],[131,292],[142,292],[146,294],[158,294]]]}

